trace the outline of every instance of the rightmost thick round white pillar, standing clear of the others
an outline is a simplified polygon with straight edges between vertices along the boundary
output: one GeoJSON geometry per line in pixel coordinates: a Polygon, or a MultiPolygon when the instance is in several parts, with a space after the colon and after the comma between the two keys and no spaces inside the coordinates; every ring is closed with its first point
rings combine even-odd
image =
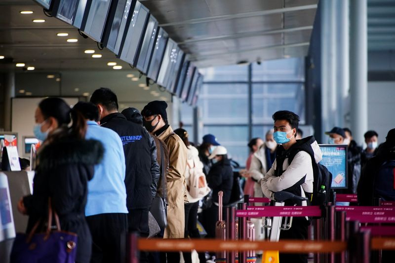
{"type": "Polygon", "coordinates": [[[360,144],[367,131],[367,0],[350,0],[351,130],[360,144]]]}

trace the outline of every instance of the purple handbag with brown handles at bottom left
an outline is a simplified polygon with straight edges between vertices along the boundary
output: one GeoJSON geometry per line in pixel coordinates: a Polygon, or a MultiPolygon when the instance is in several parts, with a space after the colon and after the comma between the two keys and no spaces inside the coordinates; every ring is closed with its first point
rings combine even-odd
{"type": "Polygon", "coordinates": [[[77,253],[77,234],[60,229],[59,217],[52,212],[48,200],[48,221],[45,232],[36,233],[40,221],[29,234],[17,233],[12,246],[10,263],[74,263],[77,253]],[[52,215],[57,230],[51,230],[52,215]]]}

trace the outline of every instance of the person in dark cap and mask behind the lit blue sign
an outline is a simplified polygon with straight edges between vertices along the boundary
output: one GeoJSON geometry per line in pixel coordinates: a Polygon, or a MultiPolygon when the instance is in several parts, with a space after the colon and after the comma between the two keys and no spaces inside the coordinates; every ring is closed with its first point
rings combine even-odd
{"type": "MultiPolygon", "coordinates": [[[[351,131],[347,129],[347,132],[352,136],[351,131]]],[[[356,145],[356,141],[352,140],[352,137],[347,138],[347,134],[344,129],[339,127],[333,127],[329,132],[325,132],[329,135],[329,144],[345,144],[348,146],[348,188],[337,189],[338,194],[355,194],[356,186],[358,185],[359,177],[361,174],[361,153],[362,148],[356,145]]],[[[348,205],[349,202],[338,202],[338,205],[348,205]]]]}

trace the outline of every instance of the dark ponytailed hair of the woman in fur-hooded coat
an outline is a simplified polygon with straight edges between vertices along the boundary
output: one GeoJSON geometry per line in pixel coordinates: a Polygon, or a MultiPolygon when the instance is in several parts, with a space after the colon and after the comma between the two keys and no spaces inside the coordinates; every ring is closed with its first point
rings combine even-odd
{"type": "Polygon", "coordinates": [[[62,132],[50,135],[48,137],[49,141],[68,135],[78,139],[85,138],[86,122],[84,117],[78,111],[70,109],[70,106],[63,99],[43,99],[39,103],[39,108],[45,120],[49,117],[53,117],[58,122],[59,128],[63,129],[62,132]],[[73,123],[69,128],[68,125],[71,121],[73,121],[73,123]]]}

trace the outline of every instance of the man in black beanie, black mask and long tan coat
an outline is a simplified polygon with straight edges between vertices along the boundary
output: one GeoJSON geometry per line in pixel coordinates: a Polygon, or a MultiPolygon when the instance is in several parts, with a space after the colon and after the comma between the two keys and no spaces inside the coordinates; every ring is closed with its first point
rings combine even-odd
{"type": "MultiPolygon", "coordinates": [[[[167,120],[167,103],[154,100],[141,111],[144,127],[165,142],[169,150],[169,170],[167,181],[167,228],[164,238],[184,238],[185,213],[187,202],[185,168],[188,150],[181,138],[173,132],[167,120]]],[[[179,253],[167,253],[167,262],[180,262],[179,253]]]]}

